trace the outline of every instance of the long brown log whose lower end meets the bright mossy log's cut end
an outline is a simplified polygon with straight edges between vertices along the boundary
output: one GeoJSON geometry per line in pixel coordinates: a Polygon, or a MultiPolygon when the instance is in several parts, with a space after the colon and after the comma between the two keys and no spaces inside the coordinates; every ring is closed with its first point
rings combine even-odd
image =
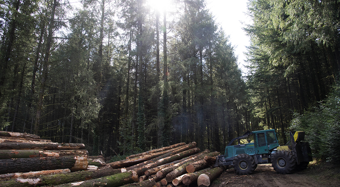
{"type": "Polygon", "coordinates": [[[174,160],[179,160],[181,158],[184,158],[184,157],[187,157],[189,155],[193,155],[193,154],[196,154],[200,152],[200,149],[199,148],[192,148],[192,149],[189,149],[189,150],[186,150],[186,151],[183,151],[181,153],[177,153],[175,155],[172,155],[172,156],[168,156],[166,158],[161,158],[159,160],[156,160],[150,164],[147,164],[147,165],[144,165],[142,167],[139,167],[139,168],[135,168],[133,170],[135,170],[138,174],[138,176],[141,176],[143,175],[143,173],[150,169],[150,168],[154,168],[154,167],[157,167],[157,166],[160,166],[160,165],[163,165],[163,164],[166,164],[166,163],[170,163],[170,162],[173,162],[174,160]]]}

